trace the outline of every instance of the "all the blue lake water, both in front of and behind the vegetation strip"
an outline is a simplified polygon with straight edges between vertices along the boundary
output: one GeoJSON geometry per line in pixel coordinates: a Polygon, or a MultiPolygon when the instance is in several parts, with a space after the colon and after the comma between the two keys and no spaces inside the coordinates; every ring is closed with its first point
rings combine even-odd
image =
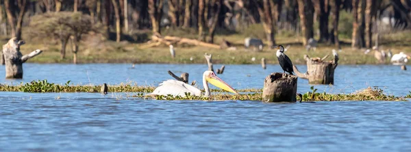
{"type": "MultiPolygon", "coordinates": [[[[129,67],[25,64],[23,80],[0,81],[156,86],[171,78],[167,70],[200,81],[207,68],[129,67]]],[[[234,88],[262,88],[264,77],[279,71],[278,65],[265,71],[259,65],[226,65],[219,77],[234,88]]],[[[315,88],[349,93],[378,86],[403,96],[411,90],[410,75],[398,66],[338,66],[334,86],[315,88]]],[[[299,79],[298,91],[308,90],[308,81],[299,79]]],[[[410,101],[157,101],[129,94],[0,92],[0,151],[411,151],[410,101]]]]}

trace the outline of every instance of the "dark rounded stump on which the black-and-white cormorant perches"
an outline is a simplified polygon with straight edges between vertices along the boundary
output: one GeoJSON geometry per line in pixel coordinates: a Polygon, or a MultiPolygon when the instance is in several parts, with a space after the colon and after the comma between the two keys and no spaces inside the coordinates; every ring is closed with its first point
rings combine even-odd
{"type": "Polygon", "coordinates": [[[297,101],[297,79],[295,75],[271,73],[264,79],[263,102],[297,101]]]}

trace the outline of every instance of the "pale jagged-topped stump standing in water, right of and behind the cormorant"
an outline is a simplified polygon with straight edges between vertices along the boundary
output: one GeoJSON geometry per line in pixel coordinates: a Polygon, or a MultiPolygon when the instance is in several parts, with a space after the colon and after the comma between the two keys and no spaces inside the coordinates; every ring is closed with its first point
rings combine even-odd
{"type": "Polygon", "coordinates": [[[304,55],[304,60],[307,61],[307,72],[300,73],[296,66],[294,68],[295,75],[302,79],[308,79],[310,84],[334,84],[334,70],[338,66],[338,55],[334,55],[331,61],[323,61],[327,58],[310,58],[304,55]]]}

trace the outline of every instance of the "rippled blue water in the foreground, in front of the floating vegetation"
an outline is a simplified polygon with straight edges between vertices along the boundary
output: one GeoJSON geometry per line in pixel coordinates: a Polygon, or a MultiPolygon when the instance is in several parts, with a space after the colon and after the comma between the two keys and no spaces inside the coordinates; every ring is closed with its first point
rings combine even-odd
{"type": "Polygon", "coordinates": [[[411,151],[409,101],[121,95],[0,92],[0,151],[411,151]]]}

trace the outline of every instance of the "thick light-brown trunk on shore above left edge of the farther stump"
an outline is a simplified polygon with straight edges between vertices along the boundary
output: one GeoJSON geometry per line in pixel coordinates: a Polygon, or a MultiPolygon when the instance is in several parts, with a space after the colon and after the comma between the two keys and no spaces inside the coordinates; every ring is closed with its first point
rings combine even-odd
{"type": "Polygon", "coordinates": [[[297,0],[300,16],[301,32],[303,34],[303,45],[307,45],[308,39],[314,37],[312,30],[314,11],[311,0],[297,0]]]}

